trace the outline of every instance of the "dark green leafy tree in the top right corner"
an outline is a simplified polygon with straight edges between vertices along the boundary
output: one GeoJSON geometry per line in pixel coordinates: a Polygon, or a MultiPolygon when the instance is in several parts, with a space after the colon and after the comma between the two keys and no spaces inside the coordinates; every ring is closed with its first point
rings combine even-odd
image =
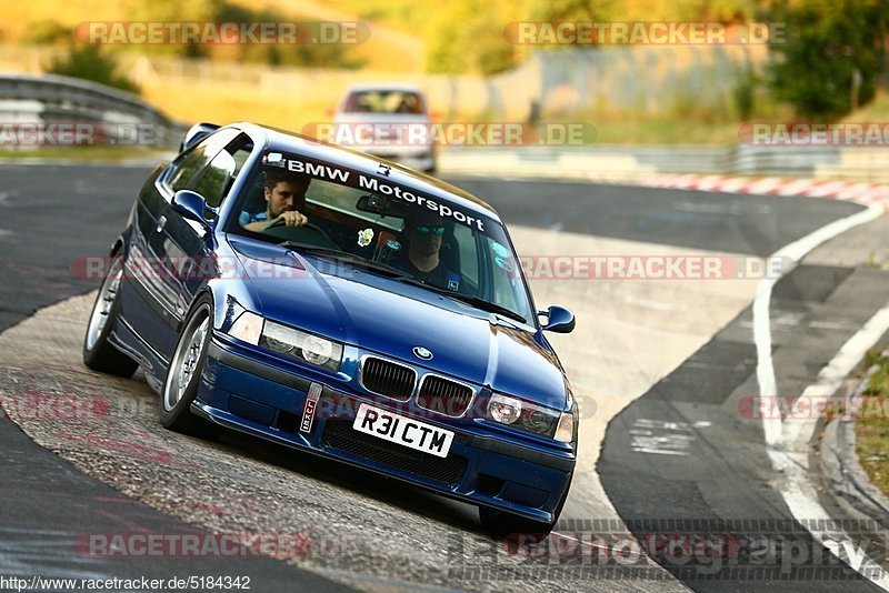
{"type": "Polygon", "coordinates": [[[773,42],[770,86],[778,99],[811,120],[832,120],[870,101],[881,69],[889,17],[885,0],[802,0],[770,13],[786,23],[773,42]],[[853,90],[853,86],[856,89],[853,90]]]}

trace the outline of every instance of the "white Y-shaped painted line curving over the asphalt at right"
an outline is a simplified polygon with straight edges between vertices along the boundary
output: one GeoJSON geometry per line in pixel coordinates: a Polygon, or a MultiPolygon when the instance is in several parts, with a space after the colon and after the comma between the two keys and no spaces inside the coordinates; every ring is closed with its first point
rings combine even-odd
{"type": "MultiPolygon", "coordinates": [[[[811,234],[790,243],[773,254],[775,258],[787,258],[793,264],[798,263],[803,255],[820,245],[821,243],[871,220],[876,220],[883,213],[882,205],[870,205],[863,212],[832,222],[811,234]]],[[[787,274],[792,267],[782,271],[781,275],[787,274]]],[[[763,398],[777,396],[777,384],[775,379],[775,364],[771,358],[771,320],[769,315],[769,303],[771,291],[779,278],[765,278],[760,280],[757,296],[753,301],[753,342],[757,346],[757,380],[759,382],[759,393],[763,398]]],[[[818,375],[818,381],[810,385],[803,395],[828,395],[832,394],[841,384],[856,364],[863,358],[870,348],[880,336],[889,330],[889,305],[881,309],[861,328],[837,353],[833,360],[825,366],[818,375]]],[[[787,434],[785,424],[780,418],[770,418],[772,414],[762,414],[762,431],[767,444],[769,459],[776,471],[785,476],[781,486],[781,496],[793,517],[800,522],[812,537],[818,542],[828,541],[827,533],[812,530],[812,520],[830,519],[828,512],[818,501],[818,493],[812,486],[808,475],[808,446],[816,428],[816,421],[809,419],[788,419],[787,434]]],[[[836,541],[838,531],[832,530],[830,541],[836,541]]],[[[842,537],[842,546],[828,546],[828,550],[848,564],[859,574],[875,583],[876,585],[889,591],[889,575],[877,564],[863,556],[863,553],[856,547],[848,534],[839,532],[842,537]],[[842,557],[842,554],[847,557],[842,557]]]]}

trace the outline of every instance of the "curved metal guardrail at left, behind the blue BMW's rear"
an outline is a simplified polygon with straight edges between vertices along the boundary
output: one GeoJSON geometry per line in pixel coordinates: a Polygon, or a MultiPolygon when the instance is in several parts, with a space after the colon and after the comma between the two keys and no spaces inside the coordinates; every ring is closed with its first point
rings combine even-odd
{"type": "Polygon", "coordinates": [[[176,148],[187,130],[136,94],[53,74],[0,74],[0,119],[19,125],[99,124],[102,142],[116,145],[176,148]]]}

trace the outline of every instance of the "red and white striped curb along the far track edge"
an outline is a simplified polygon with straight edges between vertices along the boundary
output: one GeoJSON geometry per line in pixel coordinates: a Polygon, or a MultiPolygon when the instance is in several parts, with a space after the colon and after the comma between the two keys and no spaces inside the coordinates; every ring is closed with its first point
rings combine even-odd
{"type": "Polygon", "coordinates": [[[865,204],[882,204],[889,208],[889,184],[872,185],[870,183],[856,183],[852,181],[782,179],[776,177],[751,179],[742,177],[680,173],[643,177],[639,180],[639,184],[649,188],[669,188],[678,190],[830,198],[865,204]]]}

